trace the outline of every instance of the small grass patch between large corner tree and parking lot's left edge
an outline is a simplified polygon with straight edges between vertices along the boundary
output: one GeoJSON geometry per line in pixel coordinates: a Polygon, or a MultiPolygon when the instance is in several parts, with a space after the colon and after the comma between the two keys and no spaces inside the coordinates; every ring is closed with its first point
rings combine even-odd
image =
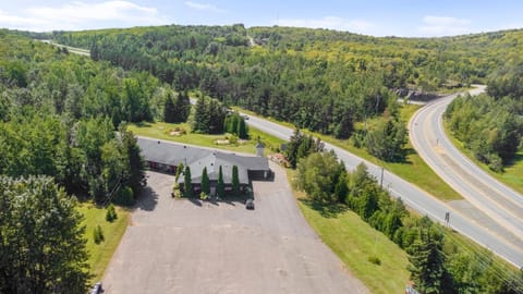
{"type": "Polygon", "coordinates": [[[87,240],[88,264],[93,274],[92,281],[98,282],[101,280],[118,244],[120,244],[123,233],[125,233],[130,212],[117,207],[118,219],[113,222],[108,222],[106,221],[106,209],[97,208],[93,204],[81,204],[78,211],[84,216],[82,225],[86,226],[84,237],[87,240]],[[105,241],[100,244],[95,244],[93,231],[98,224],[104,231],[105,241]]]}

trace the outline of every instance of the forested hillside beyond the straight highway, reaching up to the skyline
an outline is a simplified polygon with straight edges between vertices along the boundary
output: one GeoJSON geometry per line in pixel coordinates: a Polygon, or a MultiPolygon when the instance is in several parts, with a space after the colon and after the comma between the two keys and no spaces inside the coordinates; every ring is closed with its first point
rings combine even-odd
{"type": "MultiPolygon", "coordinates": [[[[386,136],[404,132],[399,125],[404,122],[394,123],[388,114],[396,108],[397,98],[409,93],[414,93],[415,98],[488,83],[488,95],[497,105],[509,107],[509,100],[501,98],[507,93],[521,97],[522,91],[518,83],[521,66],[514,64],[521,64],[516,52],[523,50],[523,30],[445,38],[377,38],[329,29],[246,29],[235,24],[53,32],[38,37],[90,49],[95,60],[147,71],[175,89],[197,90],[226,106],[239,106],[341,139],[351,137],[358,122],[382,118],[378,128],[388,125],[389,134],[367,138],[367,132],[360,133],[355,140],[362,147],[366,143],[387,143],[386,136]]],[[[487,101],[481,103],[486,112],[494,113],[487,101]]],[[[519,131],[512,132],[510,138],[490,136],[488,144],[506,145],[503,139],[512,144],[513,138],[519,142],[521,123],[512,127],[519,131]]],[[[502,170],[513,157],[513,147],[506,146],[507,150],[499,152],[494,149],[506,147],[472,144],[459,132],[457,136],[494,170],[502,170]],[[483,151],[477,152],[478,148],[483,151]]],[[[404,140],[401,136],[398,139],[404,140]]],[[[401,152],[366,147],[384,160],[402,160],[401,152]]]]}

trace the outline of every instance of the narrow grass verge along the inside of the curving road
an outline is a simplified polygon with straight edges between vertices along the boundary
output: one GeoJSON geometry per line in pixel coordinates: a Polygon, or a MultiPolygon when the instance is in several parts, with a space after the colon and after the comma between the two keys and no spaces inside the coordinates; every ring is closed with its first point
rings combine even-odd
{"type": "Polygon", "coordinates": [[[476,166],[482,168],[484,171],[489,173],[491,176],[497,179],[499,182],[508,185],[514,191],[523,194],[523,150],[520,150],[515,158],[512,160],[511,164],[504,167],[504,171],[501,173],[495,172],[488,168],[487,164],[477,160],[470,149],[466,149],[463,142],[459,140],[452,135],[452,131],[449,130],[448,125],[445,123],[445,132],[447,136],[454,144],[458,149],[469,157],[476,166]]]}

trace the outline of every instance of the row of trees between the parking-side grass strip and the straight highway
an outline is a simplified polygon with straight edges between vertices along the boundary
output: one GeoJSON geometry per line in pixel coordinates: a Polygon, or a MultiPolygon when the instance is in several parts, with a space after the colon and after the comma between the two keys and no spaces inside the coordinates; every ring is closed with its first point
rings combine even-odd
{"type": "Polygon", "coordinates": [[[306,192],[313,207],[346,206],[403,248],[421,293],[523,291],[523,271],[500,266],[490,253],[473,250],[427,217],[411,215],[363,163],[348,173],[335,154],[312,152],[299,160],[294,184],[306,192]]]}

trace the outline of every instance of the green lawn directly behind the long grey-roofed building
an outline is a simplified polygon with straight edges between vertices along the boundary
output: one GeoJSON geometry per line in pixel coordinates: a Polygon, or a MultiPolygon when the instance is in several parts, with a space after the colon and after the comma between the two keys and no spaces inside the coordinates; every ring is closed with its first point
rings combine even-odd
{"type": "Polygon", "coordinates": [[[255,145],[259,137],[259,139],[265,144],[265,152],[270,154],[275,152],[279,149],[282,139],[277,138],[275,136],[265,134],[259,130],[250,126],[250,136],[251,139],[244,143],[238,143],[235,145],[218,145],[216,140],[224,139],[227,135],[208,135],[208,134],[195,134],[191,133],[191,126],[187,123],[181,124],[173,124],[173,123],[165,123],[165,122],[155,122],[155,123],[138,123],[138,124],[130,124],[129,130],[132,131],[134,134],[138,136],[147,136],[154,138],[160,138],[166,140],[211,147],[211,148],[219,148],[219,149],[227,149],[233,150],[238,152],[245,152],[245,154],[254,154],[256,151],[255,145]],[[185,135],[173,136],[170,135],[172,130],[175,128],[183,128],[185,130],[185,135]]]}

